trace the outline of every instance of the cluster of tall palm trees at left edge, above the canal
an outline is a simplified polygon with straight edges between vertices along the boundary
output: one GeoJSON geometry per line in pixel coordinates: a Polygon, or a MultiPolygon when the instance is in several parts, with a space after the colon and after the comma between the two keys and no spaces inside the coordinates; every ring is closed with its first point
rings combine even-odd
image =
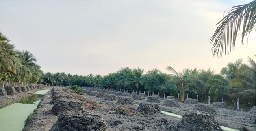
{"type": "Polygon", "coordinates": [[[15,45],[0,32],[0,81],[36,83],[43,71],[29,51],[15,50],[15,45]]]}

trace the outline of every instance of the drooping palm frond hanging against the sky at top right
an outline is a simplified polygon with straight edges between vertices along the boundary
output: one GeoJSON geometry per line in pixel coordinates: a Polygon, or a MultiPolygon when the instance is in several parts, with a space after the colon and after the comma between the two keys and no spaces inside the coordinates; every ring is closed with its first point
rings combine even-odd
{"type": "Polygon", "coordinates": [[[241,25],[242,44],[244,38],[255,29],[255,0],[245,5],[232,7],[228,15],[216,25],[217,29],[210,39],[210,42],[214,42],[211,51],[213,56],[215,54],[218,57],[225,56],[235,48],[241,25]]]}

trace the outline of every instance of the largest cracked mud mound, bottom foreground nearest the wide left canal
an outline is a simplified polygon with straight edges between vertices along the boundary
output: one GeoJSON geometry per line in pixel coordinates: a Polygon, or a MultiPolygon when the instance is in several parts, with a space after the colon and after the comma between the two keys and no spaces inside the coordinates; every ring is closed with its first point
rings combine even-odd
{"type": "Polygon", "coordinates": [[[63,113],[50,131],[108,131],[101,115],[89,113],[63,113]]]}

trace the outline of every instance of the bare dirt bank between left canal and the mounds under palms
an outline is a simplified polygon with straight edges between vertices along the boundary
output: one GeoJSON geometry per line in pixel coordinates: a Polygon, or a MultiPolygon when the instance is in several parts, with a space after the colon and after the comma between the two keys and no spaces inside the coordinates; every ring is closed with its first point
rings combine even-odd
{"type": "MultiPolygon", "coordinates": [[[[46,88],[44,88],[44,89],[46,89],[46,88]]],[[[30,96],[31,95],[30,93],[34,93],[39,90],[42,90],[42,89],[34,89],[34,90],[27,91],[27,92],[21,92],[21,93],[17,93],[17,95],[0,96],[0,109],[4,108],[10,104],[13,104],[15,102],[20,102],[23,98],[30,96]]]]}

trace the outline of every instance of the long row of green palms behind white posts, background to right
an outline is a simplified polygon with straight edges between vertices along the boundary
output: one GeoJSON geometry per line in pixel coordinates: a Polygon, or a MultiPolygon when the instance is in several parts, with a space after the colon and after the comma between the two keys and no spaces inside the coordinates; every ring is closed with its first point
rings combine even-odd
{"type": "Polygon", "coordinates": [[[184,101],[186,94],[189,98],[197,98],[199,95],[200,101],[207,101],[208,96],[212,101],[224,97],[225,100],[236,102],[236,99],[240,98],[240,103],[255,105],[255,61],[248,57],[248,63],[245,64],[243,59],[230,62],[219,74],[212,69],[184,69],[178,73],[167,66],[166,69],[171,73],[167,74],[157,68],[144,71],[139,67],[122,67],[106,76],[47,72],[41,78],[52,85],[145,91],[147,94],[160,93],[161,96],[164,93],[168,96],[170,93],[178,96],[179,93],[181,101],[184,101]]]}

